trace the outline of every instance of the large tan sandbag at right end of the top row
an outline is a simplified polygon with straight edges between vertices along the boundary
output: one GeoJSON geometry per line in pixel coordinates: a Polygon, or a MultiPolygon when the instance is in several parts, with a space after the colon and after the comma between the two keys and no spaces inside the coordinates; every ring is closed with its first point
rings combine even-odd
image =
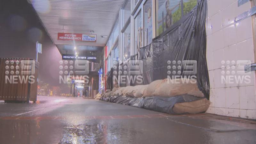
{"type": "Polygon", "coordinates": [[[164,97],[173,97],[177,95],[193,95],[196,97],[204,97],[204,94],[198,89],[196,80],[191,79],[165,79],[156,88],[153,95],[164,97]]]}

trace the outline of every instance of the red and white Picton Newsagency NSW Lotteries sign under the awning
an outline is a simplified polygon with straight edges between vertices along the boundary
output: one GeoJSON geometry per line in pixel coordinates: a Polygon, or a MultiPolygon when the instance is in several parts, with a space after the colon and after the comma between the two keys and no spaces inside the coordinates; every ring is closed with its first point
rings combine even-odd
{"type": "Polygon", "coordinates": [[[58,33],[59,41],[96,42],[96,34],[58,33]]]}

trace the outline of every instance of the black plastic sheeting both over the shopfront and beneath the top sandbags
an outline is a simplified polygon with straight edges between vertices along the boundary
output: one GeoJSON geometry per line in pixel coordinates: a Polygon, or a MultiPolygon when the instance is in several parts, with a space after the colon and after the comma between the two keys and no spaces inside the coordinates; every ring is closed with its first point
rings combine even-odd
{"type": "MultiPolygon", "coordinates": [[[[196,7],[191,12],[181,18],[164,33],[153,39],[153,42],[149,46],[141,48],[137,55],[131,56],[131,60],[141,60],[143,62],[143,70],[140,70],[140,74],[143,77],[144,85],[168,77],[173,79],[172,76],[176,76],[176,78],[177,76],[178,78],[196,76],[198,88],[209,100],[210,84],[206,62],[206,13],[207,0],[198,0],[196,7]],[[185,63],[184,61],[187,60],[197,62],[196,74],[188,75],[183,73],[190,71],[189,69],[184,69],[184,66],[182,66],[182,64],[185,63]],[[179,66],[180,68],[178,68],[179,66]]],[[[124,62],[115,66],[115,70],[111,69],[111,73],[114,74],[108,74],[108,80],[113,76],[128,76],[124,82],[118,81],[119,79],[116,80],[120,87],[139,85],[139,83],[134,83],[129,79],[131,76],[129,72],[133,71],[131,68],[132,64],[134,64],[134,61],[124,62]],[[118,73],[114,72],[117,71],[117,69],[118,73]]],[[[113,84],[112,80],[109,81],[113,84]]],[[[113,86],[109,87],[111,90],[112,88],[113,86]]],[[[193,95],[178,95],[175,97],[153,96],[142,98],[133,98],[129,96],[104,97],[104,95],[102,95],[100,100],[175,114],[172,110],[174,104],[192,102],[203,98],[204,97],[195,97],[193,95]]]]}

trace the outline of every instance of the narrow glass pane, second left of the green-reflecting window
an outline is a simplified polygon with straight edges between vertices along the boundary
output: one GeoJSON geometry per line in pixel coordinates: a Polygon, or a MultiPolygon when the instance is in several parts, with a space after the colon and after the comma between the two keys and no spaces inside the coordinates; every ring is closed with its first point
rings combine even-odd
{"type": "Polygon", "coordinates": [[[141,11],[138,12],[134,19],[134,54],[142,47],[142,20],[141,11]]]}

